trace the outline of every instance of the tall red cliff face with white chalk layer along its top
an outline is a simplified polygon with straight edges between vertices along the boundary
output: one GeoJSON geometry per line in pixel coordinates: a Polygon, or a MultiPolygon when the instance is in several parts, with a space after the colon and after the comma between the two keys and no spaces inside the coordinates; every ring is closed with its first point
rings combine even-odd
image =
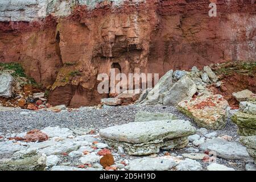
{"type": "MultiPolygon", "coordinates": [[[[212,1],[213,2],[213,1],[212,1]]],[[[256,61],[256,2],[0,2],[0,61],[52,85],[53,105],[95,105],[97,75],[159,73],[229,60],[256,61]]]]}

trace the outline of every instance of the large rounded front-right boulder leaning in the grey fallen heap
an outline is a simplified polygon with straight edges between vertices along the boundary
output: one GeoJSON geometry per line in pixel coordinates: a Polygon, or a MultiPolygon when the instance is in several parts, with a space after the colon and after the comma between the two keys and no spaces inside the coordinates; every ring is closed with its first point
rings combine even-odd
{"type": "Polygon", "coordinates": [[[191,98],[196,91],[195,82],[191,78],[184,76],[165,94],[163,105],[177,105],[179,102],[191,98]]]}

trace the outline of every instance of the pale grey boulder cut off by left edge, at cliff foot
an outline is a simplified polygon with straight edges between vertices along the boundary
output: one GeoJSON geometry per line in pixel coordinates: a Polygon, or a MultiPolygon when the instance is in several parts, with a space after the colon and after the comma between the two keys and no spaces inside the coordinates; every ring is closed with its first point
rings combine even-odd
{"type": "MultiPolygon", "coordinates": [[[[1,73],[0,73],[1,74],[1,73]]],[[[3,73],[0,75],[0,97],[9,98],[12,95],[13,77],[3,73]]]]}

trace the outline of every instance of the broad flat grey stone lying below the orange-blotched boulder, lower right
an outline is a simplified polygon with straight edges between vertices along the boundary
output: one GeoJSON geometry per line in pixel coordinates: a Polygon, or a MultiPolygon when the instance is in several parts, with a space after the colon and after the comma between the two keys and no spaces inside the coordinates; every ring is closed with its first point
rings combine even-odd
{"type": "Polygon", "coordinates": [[[216,138],[208,140],[200,144],[201,151],[216,152],[216,156],[230,160],[243,160],[250,159],[246,147],[242,146],[239,142],[228,142],[227,140],[216,138]]]}

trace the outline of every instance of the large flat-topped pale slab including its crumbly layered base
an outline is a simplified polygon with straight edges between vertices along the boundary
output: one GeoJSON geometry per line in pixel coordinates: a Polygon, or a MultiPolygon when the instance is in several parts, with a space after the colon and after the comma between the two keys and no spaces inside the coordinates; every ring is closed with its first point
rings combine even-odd
{"type": "Polygon", "coordinates": [[[184,120],[131,122],[100,130],[109,146],[121,146],[129,155],[158,153],[160,148],[183,148],[196,129],[184,120]]]}

